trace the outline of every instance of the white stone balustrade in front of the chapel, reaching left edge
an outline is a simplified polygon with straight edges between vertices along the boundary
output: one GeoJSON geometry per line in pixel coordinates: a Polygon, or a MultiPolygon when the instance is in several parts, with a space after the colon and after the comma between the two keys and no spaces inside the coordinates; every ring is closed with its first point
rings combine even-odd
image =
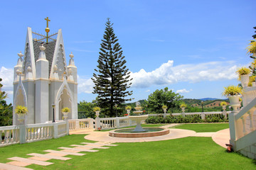
{"type": "Polygon", "coordinates": [[[0,127],[0,147],[16,144],[48,140],[68,135],[68,121],[57,123],[40,123],[31,125],[14,125],[0,127]]]}

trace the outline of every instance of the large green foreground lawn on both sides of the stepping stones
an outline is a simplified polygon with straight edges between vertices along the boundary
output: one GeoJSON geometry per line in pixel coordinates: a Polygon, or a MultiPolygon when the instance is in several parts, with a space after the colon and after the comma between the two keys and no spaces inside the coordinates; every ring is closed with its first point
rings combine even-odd
{"type": "MultiPolygon", "coordinates": [[[[201,125],[201,124],[199,124],[201,125]]],[[[218,126],[219,124],[214,124],[218,126]]],[[[181,126],[180,126],[181,127],[181,126]]],[[[178,127],[177,127],[178,128],[178,127]]],[[[80,142],[92,142],[85,135],[69,135],[54,140],[11,145],[0,148],[0,162],[11,162],[9,157],[31,157],[45,149],[70,147],[80,142]]],[[[50,166],[31,164],[31,169],[255,169],[256,162],[240,154],[225,152],[211,137],[185,137],[159,142],[118,143],[117,147],[99,149],[84,156],[67,155],[67,161],[50,159],[50,166]]]]}

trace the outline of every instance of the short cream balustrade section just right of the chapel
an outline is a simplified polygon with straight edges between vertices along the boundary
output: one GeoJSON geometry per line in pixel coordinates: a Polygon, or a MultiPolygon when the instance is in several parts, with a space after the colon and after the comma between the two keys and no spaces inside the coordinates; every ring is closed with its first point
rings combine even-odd
{"type": "Polygon", "coordinates": [[[94,119],[85,118],[85,119],[71,119],[68,120],[69,130],[85,130],[94,128],[94,119]]]}

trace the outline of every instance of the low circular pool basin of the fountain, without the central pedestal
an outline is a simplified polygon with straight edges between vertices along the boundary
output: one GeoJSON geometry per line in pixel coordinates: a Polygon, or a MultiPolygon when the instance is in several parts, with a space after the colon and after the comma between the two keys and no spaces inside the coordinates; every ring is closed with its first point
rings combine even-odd
{"type": "Polygon", "coordinates": [[[134,128],[111,130],[110,137],[155,137],[169,134],[170,130],[165,128],[143,128],[144,132],[134,132],[134,128]]]}

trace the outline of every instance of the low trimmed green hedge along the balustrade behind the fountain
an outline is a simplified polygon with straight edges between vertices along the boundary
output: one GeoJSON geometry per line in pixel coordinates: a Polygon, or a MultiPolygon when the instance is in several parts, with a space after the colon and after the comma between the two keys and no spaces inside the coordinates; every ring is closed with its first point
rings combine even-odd
{"type": "Polygon", "coordinates": [[[167,115],[164,118],[163,115],[150,116],[146,119],[146,123],[224,123],[228,122],[224,115],[206,115],[206,119],[202,120],[201,115],[182,115],[174,116],[167,115]]]}

